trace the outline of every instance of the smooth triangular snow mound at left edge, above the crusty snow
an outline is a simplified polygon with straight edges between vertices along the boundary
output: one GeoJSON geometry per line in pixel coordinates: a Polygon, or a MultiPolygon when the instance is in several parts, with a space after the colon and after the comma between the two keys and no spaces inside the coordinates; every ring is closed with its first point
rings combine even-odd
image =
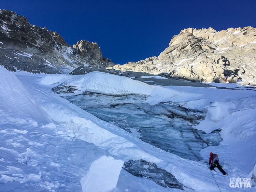
{"type": "Polygon", "coordinates": [[[51,118],[44,112],[32,98],[18,78],[5,70],[0,65],[1,94],[0,94],[0,115],[1,120],[12,119],[14,122],[52,122],[51,118]],[[15,118],[12,118],[15,117],[15,118]]]}

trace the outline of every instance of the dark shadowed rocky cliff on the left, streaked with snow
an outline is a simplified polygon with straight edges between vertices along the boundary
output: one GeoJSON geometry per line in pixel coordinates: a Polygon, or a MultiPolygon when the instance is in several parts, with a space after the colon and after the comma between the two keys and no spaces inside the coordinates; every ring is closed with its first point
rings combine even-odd
{"type": "Polygon", "coordinates": [[[106,67],[97,43],[69,46],[56,32],[31,25],[15,12],[0,10],[0,64],[10,71],[70,73],[79,66],[106,67]]]}

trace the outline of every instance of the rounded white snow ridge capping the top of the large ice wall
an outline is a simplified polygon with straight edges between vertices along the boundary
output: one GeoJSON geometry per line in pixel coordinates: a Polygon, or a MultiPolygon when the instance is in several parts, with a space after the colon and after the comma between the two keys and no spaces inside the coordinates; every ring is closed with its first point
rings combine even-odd
{"type": "MultiPolygon", "coordinates": [[[[72,86],[79,90],[74,91],[73,94],[87,90],[116,95],[130,93],[150,95],[151,97],[147,99],[147,102],[151,104],[167,101],[170,98],[172,98],[172,101],[176,102],[183,102],[188,99],[184,93],[177,90],[151,86],[128,77],[102,72],[91,72],[86,75],[76,75],[75,77],[70,75],[49,75],[42,78],[40,83],[44,85],[62,84],[62,86],[72,86]]],[[[198,95],[200,94],[190,94],[189,99],[191,99],[191,97],[198,97],[198,95]]]]}

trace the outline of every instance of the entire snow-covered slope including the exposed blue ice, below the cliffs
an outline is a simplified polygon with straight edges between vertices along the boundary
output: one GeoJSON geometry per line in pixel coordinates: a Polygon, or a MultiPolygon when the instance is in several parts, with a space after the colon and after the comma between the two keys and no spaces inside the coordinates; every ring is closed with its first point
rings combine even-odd
{"type": "Polygon", "coordinates": [[[161,87],[100,72],[1,66],[0,74],[0,191],[217,191],[209,152],[229,174],[213,173],[222,191],[230,191],[230,177],[255,177],[251,88],[161,87]],[[127,162],[136,162],[133,171],[127,162]],[[180,187],[159,184],[167,181],[180,187]]]}

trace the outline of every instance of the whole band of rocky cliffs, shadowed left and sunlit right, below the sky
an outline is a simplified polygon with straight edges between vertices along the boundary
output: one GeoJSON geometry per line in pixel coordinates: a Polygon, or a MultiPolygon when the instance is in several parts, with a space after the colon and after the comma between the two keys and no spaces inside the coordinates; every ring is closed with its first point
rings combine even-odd
{"type": "Polygon", "coordinates": [[[255,85],[256,29],[184,29],[158,57],[115,65],[102,57],[97,43],[81,40],[69,46],[58,33],[0,10],[0,64],[10,71],[32,73],[141,72],[193,82],[255,85]]]}

